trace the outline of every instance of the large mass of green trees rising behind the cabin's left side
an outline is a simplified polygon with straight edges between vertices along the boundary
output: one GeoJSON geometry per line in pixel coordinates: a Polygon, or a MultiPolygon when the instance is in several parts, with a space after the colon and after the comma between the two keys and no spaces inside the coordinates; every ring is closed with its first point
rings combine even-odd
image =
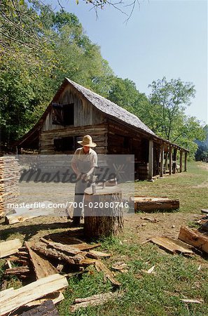
{"type": "MultiPolygon", "coordinates": [[[[9,1],[4,2],[8,4],[9,1]]],[[[106,77],[113,75],[108,62],[102,58],[99,47],[92,44],[84,34],[76,15],[64,11],[53,13],[46,6],[36,3],[30,8],[20,1],[17,1],[17,5],[22,11],[22,7],[24,8],[25,16],[29,17],[28,23],[31,19],[38,23],[34,32],[36,30],[40,49],[37,47],[34,50],[29,46],[31,37],[23,43],[20,29],[15,30],[13,35],[21,39],[19,44],[11,39],[4,41],[5,37],[2,37],[1,49],[4,50],[4,55],[0,62],[0,122],[1,142],[6,144],[29,131],[65,77],[95,90],[97,86],[102,86],[97,91],[102,90],[106,94],[108,84],[105,91],[98,78],[105,81],[106,77]],[[10,50],[6,47],[8,44],[10,50]]],[[[2,22],[2,17],[0,21],[2,22]]],[[[7,25],[3,22],[10,34],[11,21],[7,25]]]]}

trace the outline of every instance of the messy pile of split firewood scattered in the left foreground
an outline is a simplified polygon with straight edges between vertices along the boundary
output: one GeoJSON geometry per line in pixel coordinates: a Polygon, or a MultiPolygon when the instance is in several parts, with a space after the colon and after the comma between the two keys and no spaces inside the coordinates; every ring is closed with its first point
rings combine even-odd
{"type": "MultiPolygon", "coordinates": [[[[22,314],[22,308],[28,310],[46,301],[52,301],[52,305],[49,305],[53,310],[54,304],[64,299],[62,290],[68,286],[67,277],[87,272],[85,268],[88,265],[95,265],[98,272],[102,271],[115,289],[120,287],[121,284],[113,272],[101,260],[111,254],[96,251],[95,248],[100,246],[98,243],[88,244],[78,239],[76,233],[80,231],[81,229],[77,229],[51,234],[25,244],[19,239],[0,243],[1,258],[6,259],[0,292],[0,316],[34,315],[22,314]],[[11,276],[18,277],[27,285],[20,289],[6,289],[11,276]]],[[[104,294],[104,299],[99,295],[81,301],[77,299],[75,303],[78,305],[71,305],[70,311],[73,312],[79,306],[97,305],[107,298],[114,299],[120,296],[120,292],[117,294],[117,291],[109,292],[104,294]]]]}

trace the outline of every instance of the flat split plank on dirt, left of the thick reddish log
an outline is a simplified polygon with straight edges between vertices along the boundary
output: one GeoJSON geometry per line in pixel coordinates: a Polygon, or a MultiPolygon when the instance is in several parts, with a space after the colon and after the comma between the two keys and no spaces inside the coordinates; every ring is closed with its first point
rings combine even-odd
{"type": "Polygon", "coordinates": [[[162,249],[165,249],[172,254],[193,254],[190,246],[170,237],[152,237],[151,239],[148,239],[148,242],[153,242],[153,244],[157,244],[162,249]]]}

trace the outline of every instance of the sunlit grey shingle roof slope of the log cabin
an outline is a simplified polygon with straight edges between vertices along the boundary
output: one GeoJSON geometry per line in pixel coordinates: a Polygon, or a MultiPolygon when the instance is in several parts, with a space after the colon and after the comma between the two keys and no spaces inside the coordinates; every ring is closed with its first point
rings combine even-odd
{"type": "Polygon", "coordinates": [[[67,78],[67,81],[74,86],[80,93],[85,96],[92,105],[97,107],[98,110],[104,112],[105,114],[108,114],[111,117],[114,117],[116,119],[119,119],[120,121],[124,121],[125,123],[137,127],[146,133],[150,133],[151,135],[155,136],[155,133],[151,131],[151,129],[148,128],[142,121],[139,119],[139,117],[136,117],[136,115],[128,112],[127,110],[123,109],[123,107],[118,106],[116,103],[111,102],[110,100],[99,96],[99,94],[92,92],[91,90],[84,88],[80,84],[76,84],[76,82],[70,80],[67,78]]]}

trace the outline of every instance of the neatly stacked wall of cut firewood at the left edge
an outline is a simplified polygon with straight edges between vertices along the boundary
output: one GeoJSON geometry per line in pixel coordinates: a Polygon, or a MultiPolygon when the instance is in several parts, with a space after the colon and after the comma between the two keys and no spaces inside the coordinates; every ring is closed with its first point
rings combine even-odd
{"type": "Polygon", "coordinates": [[[17,203],[20,165],[15,157],[0,157],[0,218],[4,216],[7,203],[17,203]]]}

